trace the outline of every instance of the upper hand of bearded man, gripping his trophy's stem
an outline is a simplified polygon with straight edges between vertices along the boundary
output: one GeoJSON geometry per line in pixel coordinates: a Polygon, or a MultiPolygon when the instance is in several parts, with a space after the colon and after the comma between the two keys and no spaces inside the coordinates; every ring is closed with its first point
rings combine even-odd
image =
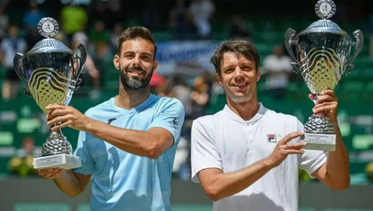
{"type": "Polygon", "coordinates": [[[48,115],[49,121],[47,122],[47,125],[51,126],[62,122],[62,124],[52,127],[52,131],[57,131],[64,127],[70,127],[75,130],[85,131],[88,123],[91,121],[88,116],[85,116],[80,111],[71,106],[48,105],[46,109],[51,111],[48,115]]]}

